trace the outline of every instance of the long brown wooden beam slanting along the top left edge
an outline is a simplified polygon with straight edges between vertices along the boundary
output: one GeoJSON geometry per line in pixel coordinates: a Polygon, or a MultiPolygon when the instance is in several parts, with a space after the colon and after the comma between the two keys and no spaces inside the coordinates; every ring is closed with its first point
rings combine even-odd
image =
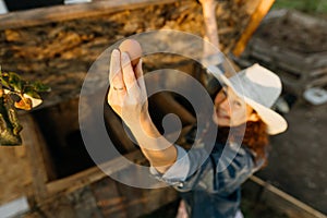
{"type": "Polygon", "coordinates": [[[90,3],[56,5],[0,15],[0,29],[35,26],[51,22],[100,16],[112,12],[133,10],[154,4],[174,3],[175,0],[102,0],[90,3]]]}

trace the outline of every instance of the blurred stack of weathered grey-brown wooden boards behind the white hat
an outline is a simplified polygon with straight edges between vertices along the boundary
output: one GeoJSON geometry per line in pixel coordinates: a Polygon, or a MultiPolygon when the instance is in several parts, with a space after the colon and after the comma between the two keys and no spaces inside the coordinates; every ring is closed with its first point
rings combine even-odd
{"type": "Polygon", "coordinates": [[[281,76],[286,90],[302,96],[307,88],[327,87],[326,38],[325,20],[274,11],[253,35],[240,63],[261,62],[281,76]]]}

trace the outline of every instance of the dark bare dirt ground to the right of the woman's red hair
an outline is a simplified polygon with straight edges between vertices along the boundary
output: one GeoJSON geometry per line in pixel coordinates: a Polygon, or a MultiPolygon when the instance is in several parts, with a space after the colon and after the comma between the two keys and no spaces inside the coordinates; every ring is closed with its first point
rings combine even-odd
{"type": "Polygon", "coordinates": [[[299,101],[286,114],[289,129],[271,137],[269,165],[257,175],[327,214],[327,104],[299,101]]]}

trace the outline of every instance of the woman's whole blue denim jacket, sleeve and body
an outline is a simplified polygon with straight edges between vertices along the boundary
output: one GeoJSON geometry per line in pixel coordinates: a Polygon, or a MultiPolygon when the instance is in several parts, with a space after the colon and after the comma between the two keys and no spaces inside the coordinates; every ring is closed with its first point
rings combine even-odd
{"type": "Polygon", "coordinates": [[[201,146],[192,153],[175,146],[175,164],[165,174],[153,167],[150,173],[181,192],[190,218],[234,218],[241,201],[240,185],[263,161],[255,165],[251,150],[233,144],[216,143],[210,153],[201,146]]]}

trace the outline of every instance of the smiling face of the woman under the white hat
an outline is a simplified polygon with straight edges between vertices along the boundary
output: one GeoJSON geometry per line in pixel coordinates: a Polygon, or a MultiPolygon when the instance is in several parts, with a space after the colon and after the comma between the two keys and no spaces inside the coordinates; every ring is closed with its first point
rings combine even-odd
{"type": "Polygon", "coordinates": [[[258,117],[243,99],[226,86],[215,97],[213,120],[219,126],[232,128],[246,121],[257,121],[258,117]]]}

